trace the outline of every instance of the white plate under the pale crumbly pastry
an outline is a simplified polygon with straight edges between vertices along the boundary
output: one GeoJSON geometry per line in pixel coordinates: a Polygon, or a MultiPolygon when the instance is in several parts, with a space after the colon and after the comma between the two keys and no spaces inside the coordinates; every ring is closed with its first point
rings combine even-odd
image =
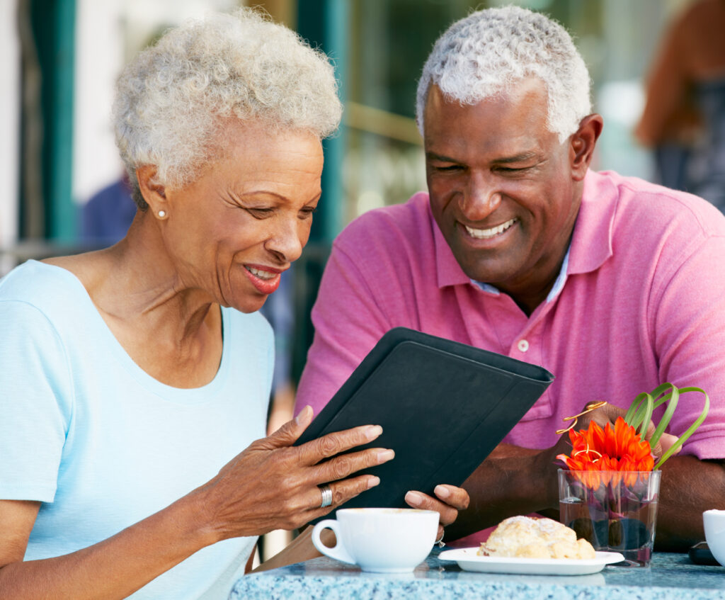
{"type": "Polygon", "coordinates": [[[519,575],[589,575],[600,572],[607,564],[624,560],[618,552],[597,552],[593,559],[518,559],[479,556],[478,551],[479,548],[455,548],[441,552],[438,558],[455,561],[465,571],[519,575]]]}

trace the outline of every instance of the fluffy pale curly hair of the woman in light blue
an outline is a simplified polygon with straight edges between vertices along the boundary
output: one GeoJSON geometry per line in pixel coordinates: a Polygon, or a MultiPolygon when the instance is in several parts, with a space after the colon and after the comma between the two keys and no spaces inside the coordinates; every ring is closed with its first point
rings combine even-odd
{"type": "Polygon", "coordinates": [[[223,153],[229,118],[323,139],[341,112],[326,55],[265,12],[243,8],[188,21],[138,54],[117,82],[113,121],[134,200],[146,210],[136,168],[155,165],[165,186],[194,181],[223,153]]]}

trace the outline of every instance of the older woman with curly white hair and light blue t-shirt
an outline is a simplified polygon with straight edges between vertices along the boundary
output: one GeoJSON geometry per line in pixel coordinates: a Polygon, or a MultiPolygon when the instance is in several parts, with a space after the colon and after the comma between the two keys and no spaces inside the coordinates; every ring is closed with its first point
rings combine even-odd
{"type": "MultiPolygon", "coordinates": [[[[293,447],[308,407],[264,437],[257,310],[307,242],[340,112],[326,58],[249,10],[125,70],[128,235],[0,282],[0,597],[225,598],[257,535],[378,484],[356,472],[392,451],[336,454],[380,427],[293,447]]],[[[468,497],[444,488],[446,525],[468,497]]]]}

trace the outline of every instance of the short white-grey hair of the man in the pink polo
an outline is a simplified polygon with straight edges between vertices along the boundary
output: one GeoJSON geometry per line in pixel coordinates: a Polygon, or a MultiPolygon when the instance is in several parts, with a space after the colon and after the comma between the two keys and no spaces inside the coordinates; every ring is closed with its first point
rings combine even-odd
{"type": "Polygon", "coordinates": [[[448,99],[477,104],[529,77],[546,86],[547,126],[565,141],[592,112],[589,71],[566,29],[521,7],[473,12],[438,38],[423,66],[415,102],[418,128],[422,134],[431,84],[448,99]]]}

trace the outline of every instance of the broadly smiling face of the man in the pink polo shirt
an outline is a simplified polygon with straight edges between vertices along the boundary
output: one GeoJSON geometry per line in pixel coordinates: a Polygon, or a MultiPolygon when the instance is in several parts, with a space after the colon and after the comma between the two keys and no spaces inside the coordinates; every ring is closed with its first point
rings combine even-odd
{"type": "Polygon", "coordinates": [[[546,119],[533,79],[472,106],[431,86],[424,115],[431,210],[456,260],[534,306],[556,279],[581,201],[571,143],[546,119]]]}

